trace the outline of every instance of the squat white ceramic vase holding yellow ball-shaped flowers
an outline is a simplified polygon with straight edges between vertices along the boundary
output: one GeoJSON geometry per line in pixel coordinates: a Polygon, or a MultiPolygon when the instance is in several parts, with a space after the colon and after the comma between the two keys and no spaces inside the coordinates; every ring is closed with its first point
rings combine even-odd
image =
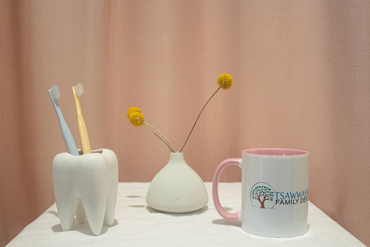
{"type": "Polygon", "coordinates": [[[189,167],[183,153],[171,153],[167,165],[149,185],[146,203],[165,213],[190,213],[208,203],[208,194],[198,174],[189,167]]]}

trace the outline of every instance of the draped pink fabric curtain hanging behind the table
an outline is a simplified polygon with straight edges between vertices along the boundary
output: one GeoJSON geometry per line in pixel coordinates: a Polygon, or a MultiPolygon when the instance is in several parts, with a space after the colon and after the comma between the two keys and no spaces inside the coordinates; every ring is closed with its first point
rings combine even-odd
{"type": "Polygon", "coordinates": [[[120,182],[150,182],[170,151],[126,110],[179,150],[221,73],[234,85],[205,108],[187,163],[210,182],[243,149],[307,150],[309,199],[370,245],[369,1],[0,0],[0,35],[0,246],[55,201],[53,84],[77,146],[82,82],[92,149],[116,152],[120,182]]]}

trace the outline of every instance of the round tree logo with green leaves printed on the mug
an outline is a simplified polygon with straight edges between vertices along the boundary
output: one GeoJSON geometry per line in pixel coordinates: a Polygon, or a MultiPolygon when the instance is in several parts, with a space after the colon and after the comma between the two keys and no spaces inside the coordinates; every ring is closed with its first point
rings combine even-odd
{"type": "Polygon", "coordinates": [[[273,208],[274,207],[275,189],[263,182],[256,183],[250,189],[250,201],[252,206],[259,208],[273,208]]]}

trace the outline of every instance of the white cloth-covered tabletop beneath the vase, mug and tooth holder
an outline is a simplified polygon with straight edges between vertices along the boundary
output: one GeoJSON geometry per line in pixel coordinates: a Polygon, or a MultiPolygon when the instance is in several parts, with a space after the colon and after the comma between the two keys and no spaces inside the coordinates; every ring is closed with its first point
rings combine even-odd
{"type": "MultiPolygon", "coordinates": [[[[19,246],[365,246],[353,235],[309,202],[308,232],[295,238],[264,238],[244,232],[239,221],[222,219],[212,201],[211,183],[205,183],[209,202],[206,207],[189,214],[160,213],[147,206],[149,183],[119,183],[115,223],[103,226],[94,236],[87,221],[74,220],[70,231],[62,231],[54,203],[39,218],[23,229],[7,247],[19,246]]],[[[241,184],[220,183],[221,203],[232,212],[241,207],[241,184]]]]}

